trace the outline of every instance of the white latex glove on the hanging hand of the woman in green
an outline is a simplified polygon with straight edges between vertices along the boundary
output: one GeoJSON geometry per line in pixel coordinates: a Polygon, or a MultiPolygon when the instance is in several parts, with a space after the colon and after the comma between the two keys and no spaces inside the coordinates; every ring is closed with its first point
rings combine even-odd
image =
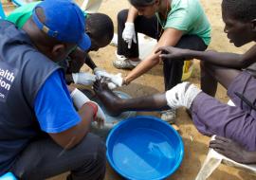
{"type": "Polygon", "coordinates": [[[134,23],[125,23],[125,27],[122,31],[122,39],[128,44],[128,48],[131,48],[133,41],[137,44],[134,23]]]}

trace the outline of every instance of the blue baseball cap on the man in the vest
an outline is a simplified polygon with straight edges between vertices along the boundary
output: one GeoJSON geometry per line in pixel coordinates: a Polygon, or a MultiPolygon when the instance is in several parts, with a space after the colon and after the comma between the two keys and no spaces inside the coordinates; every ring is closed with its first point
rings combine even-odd
{"type": "Polygon", "coordinates": [[[71,0],[45,0],[39,3],[33,9],[32,20],[48,36],[61,42],[76,44],[82,50],[87,50],[91,46],[91,40],[85,33],[82,9],[71,0]],[[36,14],[37,8],[44,11],[44,23],[36,14]]]}

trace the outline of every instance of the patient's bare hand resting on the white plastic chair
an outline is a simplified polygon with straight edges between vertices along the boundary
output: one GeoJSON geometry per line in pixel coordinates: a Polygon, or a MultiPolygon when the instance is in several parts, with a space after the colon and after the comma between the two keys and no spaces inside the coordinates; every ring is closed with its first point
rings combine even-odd
{"type": "Polygon", "coordinates": [[[236,162],[255,163],[255,159],[254,162],[251,162],[253,159],[249,158],[249,152],[229,138],[215,136],[215,139],[210,141],[210,148],[236,162]]]}

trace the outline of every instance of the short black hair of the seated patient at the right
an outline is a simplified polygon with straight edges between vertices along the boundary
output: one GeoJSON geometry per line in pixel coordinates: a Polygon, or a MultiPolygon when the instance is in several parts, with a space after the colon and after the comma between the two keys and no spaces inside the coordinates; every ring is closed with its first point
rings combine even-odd
{"type": "Polygon", "coordinates": [[[241,22],[256,19],[255,0],[223,0],[222,9],[232,18],[241,22]]]}

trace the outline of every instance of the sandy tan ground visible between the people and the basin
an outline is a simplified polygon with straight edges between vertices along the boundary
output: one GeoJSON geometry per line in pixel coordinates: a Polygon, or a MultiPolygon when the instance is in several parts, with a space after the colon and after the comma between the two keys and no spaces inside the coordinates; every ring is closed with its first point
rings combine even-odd
{"type": "MultiPolygon", "coordinates": [[[[80,4],[82,0],[78,1],[80,4]]],[[[243,46],[241,48],[236,48],[229,44],[225,33],[223,32],[224,24],[221,18],[220,4],[221,0],[201,0],[203,7],[209,17],[210,24],[212,27],[212,41],[209,49],[214,49],[218,51],[231,51],[237,53],[243,53],[247,50],[250,45],[243,46]]],[[[117,14],[120,9],[127,9],[129,3],[127,0],[103,0],[101,4],[100,12],[108,14],[115,25],[115,31],[117,31],[117,14]]],[[[126,75],[129,71],[118,70],[113,67],[112,62],[115,60],[115,50],[116,47],[108,45],[105,48],[100,49],[98,52],[90,53],[91,57],[100,67],[107,69],[107,71],[112,73],[121,72],[126,75]]],[[[198,61],[195,61],[195,68],[192,73],[192,78],[189,81],[199,85],[199,66],[198,61]]],[[[88,68],[84,66],[82,71],[88,71],[88,68]]],[[[132,97],[140,97],[145,95],[154,94],[157,92],[163,92],[163,76],[162,76],[162,65],[157,65],[154,69],[133,81],[126,87],[120,88],[131,95],[132,97]]],[[[217,99],[227,102],[228,97],[226,90],[219,86],[217,92],[217,99]]],[[[154,115],[159,117],[158,113],[138,113],[143,115],[154,115]]],[[[202,163],[208,153],[208,145],[210,138],[201,135],[197,132],[192,124],[192,120],[184,109],[179,109],[177,112],[177,126],[180,128],[180,135],[183,138],[185,145],[185,156],[180,168],[175,171],[175,173],[168,179],[178,179],[178,180],[191,180],[194,179],[197,172],[200,170],[202,163]]],[[[166,162],[168,163],[168,162],[166,162]]],[[[51,178],[51,180],[61,180],[64,179],[65,174],[51,178]]],[[[233,168],[221,165],[217,171],[214,171],[210,176],[209,180],[251,180],[255,179],[255,176],[248,174],[245,171],[238,171],[233,168]]],[[[119,180],[122,179],[119,174],[113,171],[109,166],[107,167],[105,180],[119,180]]]]}

